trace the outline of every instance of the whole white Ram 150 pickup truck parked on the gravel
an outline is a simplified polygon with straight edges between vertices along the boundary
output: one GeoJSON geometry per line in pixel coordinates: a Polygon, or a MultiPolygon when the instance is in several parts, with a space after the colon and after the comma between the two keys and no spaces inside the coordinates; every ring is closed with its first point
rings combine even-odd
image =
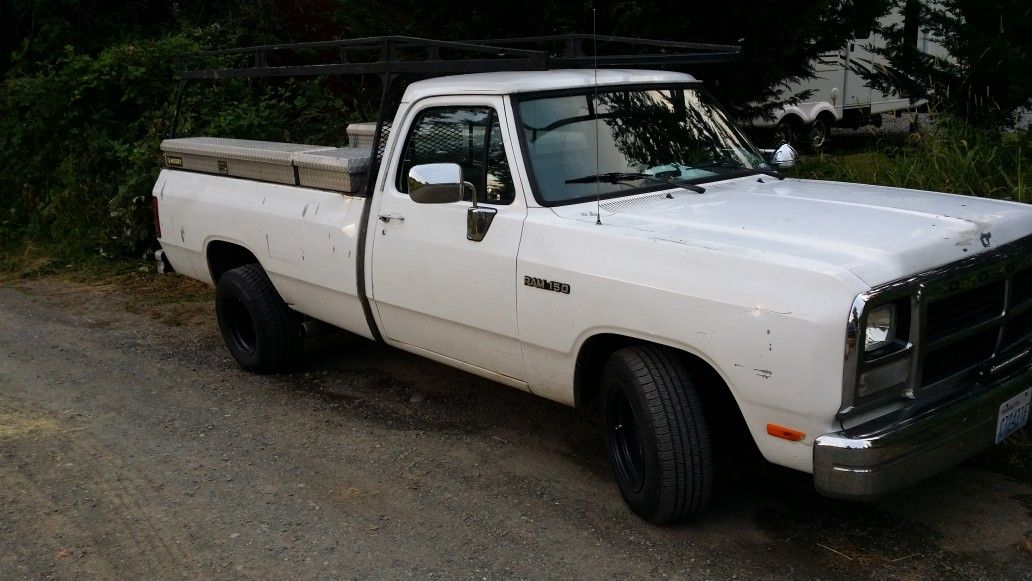
{"type": "Polygon", "coordinates": [[[390,127],[368,195],[307,182],[355,182],[348,151],[164,143],[164,257],[217,287],[244,368],[295,364],[314,319],[601,400],[620,491],[653,522],[705,507],[711,450],[742,420],[842,498],[1027,422],[1026,204],[784,179],[675,72],[442,76],[390,127]]]}

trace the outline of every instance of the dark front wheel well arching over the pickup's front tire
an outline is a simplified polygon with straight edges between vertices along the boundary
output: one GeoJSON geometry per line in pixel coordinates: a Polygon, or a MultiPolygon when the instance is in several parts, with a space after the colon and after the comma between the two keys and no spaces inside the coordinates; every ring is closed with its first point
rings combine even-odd
{"type": "Polygon", "coordinates": [[[609,356],[633,345],[655,345],[668,349],[684,362],[692,380],[700,386],[699,398],[703,402],[713,442],[719,442],[720,448],[727,446],[734,449],[746,443],[749,447],[754,446],[738,401],[716,369],[697,355],[639,338],[606,333],[594,335],[584,343],[577,355],[574,372],[574,398],[578,408],[598,398],[602,374],[609,356]]]}

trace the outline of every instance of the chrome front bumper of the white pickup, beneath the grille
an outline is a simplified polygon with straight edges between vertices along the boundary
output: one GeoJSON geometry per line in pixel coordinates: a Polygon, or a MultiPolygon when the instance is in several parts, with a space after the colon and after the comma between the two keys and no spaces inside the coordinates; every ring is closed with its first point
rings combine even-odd
{"type": "Polygon", "coordinates": [[[1032,385],[1032,368],[916,415],[906,411],[817,438],[813,480],[835,498],[865,499],[942,472],[996,442],[1000,404],[1032,385]]]}

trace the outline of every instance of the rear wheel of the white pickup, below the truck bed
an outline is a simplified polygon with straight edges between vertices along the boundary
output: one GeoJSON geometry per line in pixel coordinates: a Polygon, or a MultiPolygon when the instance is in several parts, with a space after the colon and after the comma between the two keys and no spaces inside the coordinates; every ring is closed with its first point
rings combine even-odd
{"type": "Polygon", "coordinates": [[[219,279],[215,312],[226,348],[244,369],[281,372],[300,357],[300,318],[280,298],[260,265],[239,266],[219,279]]]}

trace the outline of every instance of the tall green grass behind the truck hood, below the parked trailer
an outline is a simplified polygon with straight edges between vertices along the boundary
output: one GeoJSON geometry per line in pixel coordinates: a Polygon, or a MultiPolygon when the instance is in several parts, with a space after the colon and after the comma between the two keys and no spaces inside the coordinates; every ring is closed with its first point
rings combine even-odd
{"type": "Polygon", "coordinates": [[[997,132],[942,117],[905,142],[884,139],[861,153],[813,156],[791,173],[1032,202],[1030,167],[1029,131],[997,132]]]}

